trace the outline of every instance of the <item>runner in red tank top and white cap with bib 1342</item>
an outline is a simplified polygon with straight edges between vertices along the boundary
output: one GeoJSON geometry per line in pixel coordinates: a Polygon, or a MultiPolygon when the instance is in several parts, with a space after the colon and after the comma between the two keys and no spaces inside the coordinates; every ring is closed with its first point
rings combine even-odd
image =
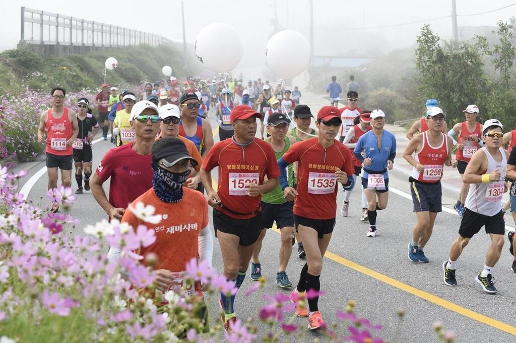
{"type": "MultiPolygon", "coordinates": [[[[466,121],[457,123],[451,130],[448,131],[448,136],[453,139],[453,143],[457,146],[456,160],[458,161],[457,169],[459,170],[460,178],[464,176],[467,164],[470,162],[471,157],[478,150],[478,147],[482,145],[480,129],[482,125],[477,123],[478,107],[476,105],[468,105],[464,111],[466,121]],[[458,135],[458,142],[454,139],[455,135],[458,135]]],[[[464,202],[466,199],[467,191],[470,189],[470,184],[462,182],[462,187],[459,194],[459,199],[454,205],[455,211],[462,218],[464,214],[464,202]]]]}

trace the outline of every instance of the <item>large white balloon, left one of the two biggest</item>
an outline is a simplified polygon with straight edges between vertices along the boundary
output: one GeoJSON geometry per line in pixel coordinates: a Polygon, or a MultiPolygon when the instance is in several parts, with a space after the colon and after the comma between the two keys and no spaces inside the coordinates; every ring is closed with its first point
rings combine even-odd
{"type": "Polygon", "coordinates": [[[243,53],[238,31],[228,24],[214,23],[205,26],[195,41],[197,59],[216,73],[231,72],[240,62],[243,53]]]}

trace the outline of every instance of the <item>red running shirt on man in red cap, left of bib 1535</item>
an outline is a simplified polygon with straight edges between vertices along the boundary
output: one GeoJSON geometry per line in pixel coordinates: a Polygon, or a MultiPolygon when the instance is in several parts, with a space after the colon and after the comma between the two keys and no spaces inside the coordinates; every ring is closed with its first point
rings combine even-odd
{"type": "Polygon", "coordinates": [[[248,219],[256,216],[252,213],[260,208],[262,196],[250,197],[245,185],[249,182],[263,184],[264,176],[267,179],[276,179],[280,176],[280,169],[276,155],[270,144],[255,138],[246,146],[236,145],[232,139],[217,142],[208,152],[202,167],[211,171],[219,167],[218,196],[223,207],[231,211],[244,213],[237,215],[220,210],[230,217],[248,219]]]}

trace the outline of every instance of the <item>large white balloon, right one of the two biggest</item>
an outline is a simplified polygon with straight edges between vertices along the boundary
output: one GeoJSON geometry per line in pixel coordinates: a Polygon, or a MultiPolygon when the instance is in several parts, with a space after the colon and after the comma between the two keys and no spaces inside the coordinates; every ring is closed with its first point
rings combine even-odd
{"type": "Polygon", "coordinates": [[[293,30],[276,33],[267,42],[265,55],[273,73],[282,79],[301,74],[310,62],[310,43],[293,30]]]}

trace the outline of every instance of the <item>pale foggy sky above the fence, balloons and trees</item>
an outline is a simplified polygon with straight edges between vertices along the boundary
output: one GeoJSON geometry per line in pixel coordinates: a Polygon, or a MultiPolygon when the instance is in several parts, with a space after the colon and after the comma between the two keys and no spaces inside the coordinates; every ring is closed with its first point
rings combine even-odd
{"type": "MultiPolygon", "coordinates": [[[[20,7],[26,6],[105,24],[158,33],[182,42],[181,1],[99,1],[75,2],[70,0],[0,0],[0,48],[14,48],[20,40],[20,7]],[[152,7],[148,6],[155,4],[152,7]],[[158,5],[159,4],[159,5],[158,5]],[[116,5],[116,10],[114,9],[116,5]],[[111,9],[111,10],[110,10],[111,9]],[[116,13],[116,14],[114,14],[116,13]]],[[[457,13],[471,14],[504,7],[514,1],[457,0],[457,13]]],[[[275,1],[185,1],[186,39],[194,43],[199,30],[214,22],[233,25],[243,37],[244,57],[239,66],[248,70],[263,64],[264,50],[273,31],[275,1]],[[253,6],[250,6],[253,4],[253,6]]],[[[309,38],[310,9],[308,0],[276,0],[278,24],[294,29],[309,38]]],[[[428,20],[451,13],[451,0],[434,1],[337,1],[314,0],[314,54],[364,55],[364,50],[386,53],[389,50],[411,46],[424,23],[392,28],[363,29],[413,21],[428,20]],[[357,28],[357,29],[353,29],[357,28]],[[353,29],[353,30],[352,30],[353,29]],[[373,46],[369,46],[373,45],[373,46]]],[[[458,18],[460,26],[494,26],[499,20],[508,21],[516,15],[516,6],[493,13],[458,18]]],[[[428,22],[442,38],[451,37],[451,18],[428,22]]],[[[231,42],[223,42],[231,47],[231,42]]]]}

